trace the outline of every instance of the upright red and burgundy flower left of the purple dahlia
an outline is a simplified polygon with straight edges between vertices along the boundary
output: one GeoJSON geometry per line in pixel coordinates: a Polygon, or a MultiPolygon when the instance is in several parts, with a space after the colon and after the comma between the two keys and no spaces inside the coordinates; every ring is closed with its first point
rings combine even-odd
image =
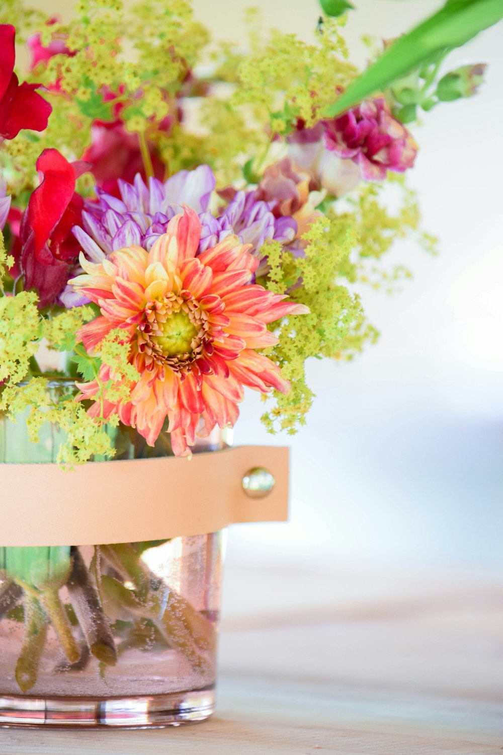
{"type": "Polygon", "coordinates": [[[37,160],[41,183],[29,198],[20,228],[20,264],[26,288],[38,291],[40,306],[54,304],[66,286],[81,245],[72,227],[81,223],[84,200],[75,180],[87,163],[69,163],[57,149],[37,160]]]}

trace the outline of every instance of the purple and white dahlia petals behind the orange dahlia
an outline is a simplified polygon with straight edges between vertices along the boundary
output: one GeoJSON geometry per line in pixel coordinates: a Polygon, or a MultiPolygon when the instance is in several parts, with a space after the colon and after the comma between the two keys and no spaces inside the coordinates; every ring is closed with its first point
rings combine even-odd
{"type": "MultiPolygon", "coordinates": [[[[189,205],[201,220],[199,251],[214,246],[225,236],[235,233],[244,244],[259,248],[266,239],[290,242],[297,230],[292,217],[276,218],[272,202],[257,202],[255,192],[237,192],[232,202],[215,217],[208,211],[210,196],[216,185],[213,171],[200,165],[193,171],[179,171],[164,183],[149,179],[149,186],[136,174],[134,183],[118,180],[121,199],[97,188],[97,201],[87,200],[82,211],[82,225],[74,226],[73,235],[87,259],[100,262],[113,251],[138,245],[149,250],[166,232],[171,218],[189,205]]],[[[72,277],[81,273],[75,268],[72,277]]],[[[85,304],[87,299],[67,285],[60,295],[64,307],[85,304]]]]}

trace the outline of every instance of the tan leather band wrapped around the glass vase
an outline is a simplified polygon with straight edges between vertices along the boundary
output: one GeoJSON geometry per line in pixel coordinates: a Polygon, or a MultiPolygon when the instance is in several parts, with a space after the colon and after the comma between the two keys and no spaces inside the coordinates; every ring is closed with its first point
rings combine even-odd
{"type": "Polygon", "coordinates": [[[57,464],[0,464],[0,546],[161,540],[287,515],[288,448],[91,462],[68,472],[57,464]],[[244,492],[252,467],[275,477],[265,498],[244,492]]]}

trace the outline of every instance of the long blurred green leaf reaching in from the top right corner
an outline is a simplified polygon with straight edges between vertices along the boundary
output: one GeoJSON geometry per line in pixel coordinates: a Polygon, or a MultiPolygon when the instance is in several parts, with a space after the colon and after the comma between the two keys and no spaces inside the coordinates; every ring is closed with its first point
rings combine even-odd
{"type": "Polygon", "coordinates": [[[385,90],[431,55],[465,45],[501,18],[502,0],[448,0],[440,11],[387,48],[326,110],[326,115],[338,116],[365,97],[385,90]]]}

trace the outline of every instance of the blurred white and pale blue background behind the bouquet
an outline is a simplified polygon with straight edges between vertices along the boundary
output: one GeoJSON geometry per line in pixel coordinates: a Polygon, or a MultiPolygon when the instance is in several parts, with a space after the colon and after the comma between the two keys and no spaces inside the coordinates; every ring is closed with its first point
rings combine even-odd
{"type": "MultiPolygon", "coordinates": [[[[195,11],[214,35],[242,40],[247,5],[195,0],[195,11]]],[[[253,5],[304,39],[319,13],[316,0],[253,5]]],[[[363,34],[396,36],[441,4],[354,5],[346,32],[363,64],[363,34]]],[[[440,256],[404,243],[394,258],[413,281],[393,297],[363,290],[379,344],[351,365],[309,366],[317,399],[293,438],[265,433],[253,393],[244,403],[236,442],[291,445],[292,515],[233,527],[230,562],[503,566],[502,48],[500,24],[453,52],[447,69],[489,63],[486,85],[414,129],[421,152],[409,177],[440,256]]]]}

